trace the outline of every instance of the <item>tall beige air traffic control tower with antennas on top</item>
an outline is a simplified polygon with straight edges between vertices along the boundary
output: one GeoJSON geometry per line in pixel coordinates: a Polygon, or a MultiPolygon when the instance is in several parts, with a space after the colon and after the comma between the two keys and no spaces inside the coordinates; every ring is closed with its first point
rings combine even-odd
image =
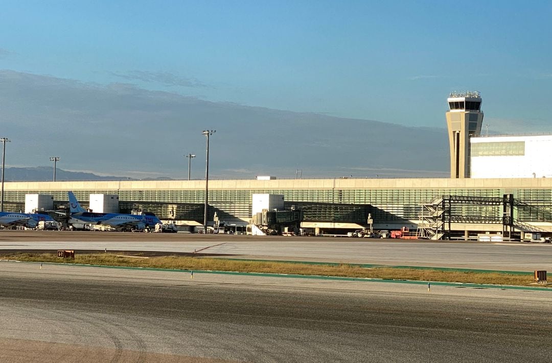
{"type": "Polygon", "coordinates": [[[470,137],[479,136],[483,113],[479,92],[452,92],[447,99],[450,178],[470,177],[470,137]]]}

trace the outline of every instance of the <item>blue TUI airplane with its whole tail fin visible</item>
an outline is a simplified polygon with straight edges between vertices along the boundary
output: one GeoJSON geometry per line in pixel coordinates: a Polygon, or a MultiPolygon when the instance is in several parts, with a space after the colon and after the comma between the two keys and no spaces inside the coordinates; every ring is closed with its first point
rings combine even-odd
{"type": "Polygon", "coordinates": [[[157,224],[163,224],[153,213],[142,215],[120,213],[94,213],[87,212],[77,201],[72,191],[69,195],[69,210],[71,218],[91,225],[107,225],[115,229],[144,229],[155,228],[157,224]]]}

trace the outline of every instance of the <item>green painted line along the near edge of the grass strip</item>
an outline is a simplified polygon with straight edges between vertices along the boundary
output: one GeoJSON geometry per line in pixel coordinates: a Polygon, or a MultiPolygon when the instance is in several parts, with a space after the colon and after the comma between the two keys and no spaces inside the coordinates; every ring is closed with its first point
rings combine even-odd
{"type": "Polygon", "coordinates": [[[536,286],[513,286],[513,285],[489,285],[489,284],[466,284],[464,282],[441,282],[441,281],[416,281],[416,280],[385,280],[371,277],[339,277],[339,276],[320,276],[320,275],[294,275],[294,274],[271,274],[271,273],[246,273],[237,271],[211,271],[211,270],[179,270],[179,269],[156,269],[151,267],[131,267],[131,266],[109,266],[109,265],[87,265],[87,264],[71,264],[71,263],[56,263],[56,262],[31,262],[31,261],[16,261],[3,260],[19,263],[30,264],[46,264],[46,265],[64,265],[64,266],[79,266],[79,267],[97,267],[107,269],[124,269],[137,271],[162,271],[162,272],[177,272],[177,273],[192,273],[194,274],[217,274],[217,275],[238,275],[238,276],[261,276],[261,277],[286,277],[291,279],[313,279],[313,280],[333,280],[333,281],[360,281],[360,282],[388,282],[392,284],[414,284],[434,286],[451,286],[451,287],[471,287],[475,289],[502,289],[502,290],[530,290],[530,291],[550,291],[549,287],[536,286]]]}

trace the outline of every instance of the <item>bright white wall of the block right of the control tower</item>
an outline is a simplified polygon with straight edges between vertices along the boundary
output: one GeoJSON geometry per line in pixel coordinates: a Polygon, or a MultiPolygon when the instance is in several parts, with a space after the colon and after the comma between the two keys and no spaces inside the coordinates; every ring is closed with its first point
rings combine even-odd
{"type": "Polygon", "coordinates": [[[477,142],[524,141],[523,156],[471,156],[471,178],[552,178],[552,135],[472,137],[477,142]],[[534,173],[534,174],[533,174],[534,173]]]}

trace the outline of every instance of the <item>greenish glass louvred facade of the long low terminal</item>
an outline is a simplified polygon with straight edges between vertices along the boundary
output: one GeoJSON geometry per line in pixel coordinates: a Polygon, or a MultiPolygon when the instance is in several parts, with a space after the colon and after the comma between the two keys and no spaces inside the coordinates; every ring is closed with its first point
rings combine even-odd
{"type": "MultiPolygon", "coordinates": [[[[67,205],[66,191],[6,191],[6,210],[24,209],[25,194],[54,196],[55,206],[67,205]]],[[[148,211],[161,219],[203,221],[204,190],[75,190],[83,207],[89,194],[118,194],[122,213],[148,211]]],[[[375,223],[418,220],[424,203],[442,195],[502,197],[503,189],[233,189],[209,191],[209,220],[217,212],[221,221],[248,221],[254,193],[283,194],[286,208],[301,209],[305,221],[365,223],[368,213],[375,223]]],[[[508,190],[527,206],[518,207],[519,220],[551,221],[552,189],[508,190]]],[[[453,206],[453,212],[465,216],[500,216],[501,206],[453,206]]]]}

